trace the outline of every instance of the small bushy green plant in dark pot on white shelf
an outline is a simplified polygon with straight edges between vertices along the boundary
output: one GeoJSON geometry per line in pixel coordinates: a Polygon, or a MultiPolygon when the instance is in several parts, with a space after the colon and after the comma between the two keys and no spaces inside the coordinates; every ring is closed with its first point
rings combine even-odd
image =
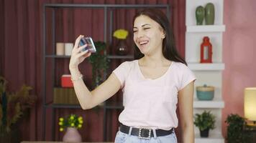
{"type": "Polygon", "coordinates": [[[199,128],[201,137],[209,137],[209,129],[215,128],[215,118],[214,114],[211,114],[210,111],[196,114],[194,124],[199,128]]]}

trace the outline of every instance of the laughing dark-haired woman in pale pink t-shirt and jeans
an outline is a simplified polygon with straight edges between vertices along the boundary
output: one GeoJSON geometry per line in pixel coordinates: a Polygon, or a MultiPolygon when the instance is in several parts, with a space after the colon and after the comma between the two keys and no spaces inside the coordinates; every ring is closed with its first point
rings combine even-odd
{"type": "Polygon", "coordinates": [[[99,87],[89,92],[78,70],[91,53],[78,47],[76,39],[70,59],[70,73],[83,109],[91,109],[124,92],[124,110],[119,115],[116,143],[177,142],[173,128],[178,127],[176,104],[184,143],[193,137],[193,82],[196,79],[174,46],[167,17],[157,9],[145,9],[134,16],[134,43],[140,59],[118,66],[99,87]]]}

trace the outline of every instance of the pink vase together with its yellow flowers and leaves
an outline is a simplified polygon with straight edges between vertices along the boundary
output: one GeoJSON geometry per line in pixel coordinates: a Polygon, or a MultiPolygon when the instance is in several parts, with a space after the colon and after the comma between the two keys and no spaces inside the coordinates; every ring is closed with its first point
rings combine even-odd
{"type": "Polygon", "coordinates": [[[66,128],[63,142],[81,142],[82,137],[77,129],[81,129],[83,125],[83,117],[78,117],[76,114],[70,114],[68,117],[59,119],[60,132],[66,128]]]}

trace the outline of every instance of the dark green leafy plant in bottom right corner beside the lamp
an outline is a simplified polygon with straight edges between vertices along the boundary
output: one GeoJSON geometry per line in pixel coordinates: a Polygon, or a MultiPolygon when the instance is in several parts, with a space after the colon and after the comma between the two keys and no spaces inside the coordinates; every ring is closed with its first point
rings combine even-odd
{"type": "Polygon", "coordinates": [[[225,121],[227,126],[227,142],[228,143],[250,143],[252,136],[244,132],[246,125],[245,119],[238,114],[229,114],[225,121]]]}

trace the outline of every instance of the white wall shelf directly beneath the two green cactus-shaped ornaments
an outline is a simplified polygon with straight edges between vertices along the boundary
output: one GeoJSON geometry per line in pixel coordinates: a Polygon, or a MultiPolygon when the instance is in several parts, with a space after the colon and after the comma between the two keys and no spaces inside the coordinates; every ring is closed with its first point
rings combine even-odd
{"type": "Polygon", "coordinates": [[[187,26],[187,32],[223,32],[225,25],[187,26]]]}

